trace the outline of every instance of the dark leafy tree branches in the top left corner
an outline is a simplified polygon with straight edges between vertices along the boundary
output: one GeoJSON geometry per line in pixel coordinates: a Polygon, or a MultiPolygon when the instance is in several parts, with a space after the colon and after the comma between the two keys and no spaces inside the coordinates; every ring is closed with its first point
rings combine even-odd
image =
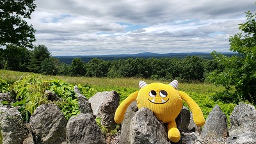
{"type": "Polygon", "coordinates": [[[35,11],[34,0],[1,0],[0,3],[0,45],[13,44],[33,47],[35,29],[25,19],[31,19],[35,11]]]}

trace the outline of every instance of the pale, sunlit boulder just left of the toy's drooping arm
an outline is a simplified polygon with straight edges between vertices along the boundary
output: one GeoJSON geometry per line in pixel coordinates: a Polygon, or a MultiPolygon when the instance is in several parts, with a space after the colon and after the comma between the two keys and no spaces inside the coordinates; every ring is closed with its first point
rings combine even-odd
{"type": "Polygon", "coordinates": [[[89,99],[93,115],[101,119],[101,125],[115,127],[115,111],[119,106],[119,95],[115,91],[96,93],[89,99]]]}

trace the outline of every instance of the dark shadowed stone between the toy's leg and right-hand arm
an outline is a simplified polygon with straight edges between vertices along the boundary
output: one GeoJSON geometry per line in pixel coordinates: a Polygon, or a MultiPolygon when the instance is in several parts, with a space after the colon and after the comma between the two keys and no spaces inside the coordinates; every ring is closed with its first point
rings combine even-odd
{"type": "Polygon", "coordinates": [[[189,131],[188,125],[190,123],[190,111],[185,106],[182,107],[179,115],[175,118],[175,122],[177,124],[177,128],[179,131],[187,132],[189,131]]]}

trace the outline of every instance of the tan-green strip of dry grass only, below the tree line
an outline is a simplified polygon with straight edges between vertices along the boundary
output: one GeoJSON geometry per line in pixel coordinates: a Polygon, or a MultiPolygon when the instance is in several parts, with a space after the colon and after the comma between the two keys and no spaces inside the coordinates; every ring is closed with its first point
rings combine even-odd
{"type": "MultiPolygon", "coordinates": [[[[8,83],[13,83],[22,77],[29,75],[28,72],[15,72],[10,70],[0,70],[0,77],[6,80],[8,83]]],[[[45,79],[61,79],[67,81],[71,84],[90,84],[95,87],[100,88],[115,88],[125,87],[125,88],[137,88],[139,81],[143,80],[146,83],[165,83],[168,84],[170,81],[155,81],[151,79],[138,79],[138,78],[108,78],[108,77],[70,77],[70,76],[43,76],[45,79]]],[[[197,93],[215,93],[223,90],[221,86],[214,86],[214,84],[209,83],[179,83],[179,90],[184,92],[197,92],[197,93]]]]}

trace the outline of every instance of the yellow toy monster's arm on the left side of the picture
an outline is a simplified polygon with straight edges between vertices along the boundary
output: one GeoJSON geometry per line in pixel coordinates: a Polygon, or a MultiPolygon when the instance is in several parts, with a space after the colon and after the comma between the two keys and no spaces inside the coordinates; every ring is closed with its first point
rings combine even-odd
{"type": "Polygon", "coordinates": [[[121,124],[124,120],[125,111],[128,108],[128,106],[137,99],[138,92],[134,92],[129,97],[127,97],[116,109],[115,113],[115,122],[117,124],[121,124]]]}

